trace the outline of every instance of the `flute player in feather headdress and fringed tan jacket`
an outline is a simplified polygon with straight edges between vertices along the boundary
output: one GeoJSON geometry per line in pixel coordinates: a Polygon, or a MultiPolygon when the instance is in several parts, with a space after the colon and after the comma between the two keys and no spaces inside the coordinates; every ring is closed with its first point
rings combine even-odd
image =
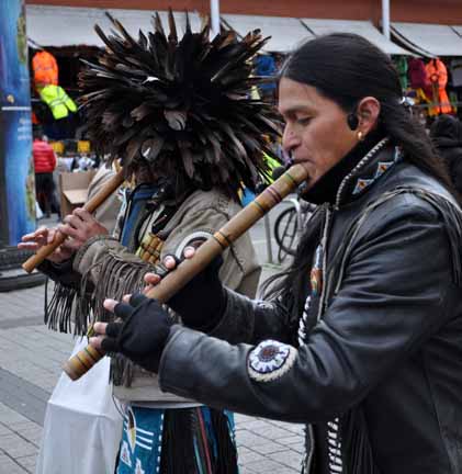
{"type": "MultiPolygon", "coordinates": [[[[76,210],[58,227],[69,240],[41,267],[57,282],[49,320],[67,328],[77,301],[79,334],[90,308],[94,319],[111,320],[103,297],[140,290],[147,272],[167,271],[165,256],[180,257],[236,214],[239,190],[255,191],[266,172],[266,136],[279,133],[277,111],[249,93],[260,80],[251,77],[251,59],[264,44],[259,32],[243,41],[223,32],[210,42],[209,27],[192,33],[188,23],[179,38],[172,15],[169,22],[168,37],[156,16],[155,32],[134,40],[114,20],[119,33],[98,30],[106,50],[81,74],[92,142],[109,162],[122,157],[136,185],[119,238],[76,210]]],[[[30,247],[45,234],[27,237],[30,247]]],[[[219,278],[253,296],[259,273],[244,235],[224,255],[219,278]]],[[[161,393],[157,377],[125,357],[114,357],[111,375],[115,396],[127,403],[119,474],[238,472],[229,411],[161,393]]]]}

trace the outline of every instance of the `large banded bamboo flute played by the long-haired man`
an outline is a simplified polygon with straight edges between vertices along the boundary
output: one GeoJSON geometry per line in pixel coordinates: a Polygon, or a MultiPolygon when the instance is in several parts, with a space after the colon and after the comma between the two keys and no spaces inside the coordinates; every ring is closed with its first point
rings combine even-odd
{"type": "MultiPolygon", "coordinates": [[[[146,296],[156,298],[160,303],[167,303],[194,275],[205,269],[216,256],[222,253],[233,241],[307,178],[308,171],[304,165],[292,166],[250,204],[196,249],[193,258],[183,260],[174,271],[168,273],[146,296]]],[[[78,380],[102,357],[104,357],[102,352],[92,346],[87,346],[71,357],[64,364],[63,370],[71,380],[78,380]]]]}

